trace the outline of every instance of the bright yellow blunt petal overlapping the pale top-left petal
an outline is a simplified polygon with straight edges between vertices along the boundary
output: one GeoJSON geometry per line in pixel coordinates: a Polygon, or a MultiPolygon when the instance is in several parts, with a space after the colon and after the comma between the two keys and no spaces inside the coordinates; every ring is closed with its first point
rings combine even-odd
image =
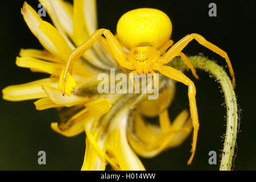
{"type": "Polygon", "coordinates": [[[69,47],[63,36],[60,34],[60,32],[50,23],[45,21],[40,22],[39,28],[43,32],[43,34],[46,35],[49,40],[51,40],[52,44],[59,52],[59,56],[64,61],[68,61],[68,57],[71,53],[71,48],[69,47]]]}

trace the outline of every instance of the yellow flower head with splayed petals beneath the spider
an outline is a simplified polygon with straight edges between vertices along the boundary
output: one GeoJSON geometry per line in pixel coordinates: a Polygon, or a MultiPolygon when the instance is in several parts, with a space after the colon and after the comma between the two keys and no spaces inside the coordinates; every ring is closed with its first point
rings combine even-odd
{"type": "Polygon", "coordinates": [[[186,110],[170,122],[168,106],[174,96],[174,81],[160,77],[159,97],[147,100],[148,93],[100,94],[97,75],[110,68],[119,72],[114,59],[97,42],[73,65],[68,75],[67,96],[61,92],[61,78],[73,49],[97,30],[96,1],[39,0],[46,5],[52,24],[45,22],[24,2],[21,13],[44,50],[21,49],[16,64],[49,77],[2,90],[9,101],[34,100],[36,109],[55,107],[60,121],[52,122],[56,133],[73,137],[85,131],[86,150],[82,170],[144,170],[139,156],[152,158],[178,146],[191,133],[186,110]],[[111,109],[110,109],[111,107],[111,109]],[[159,115],[160,125],[146,121],[159,115]]]}

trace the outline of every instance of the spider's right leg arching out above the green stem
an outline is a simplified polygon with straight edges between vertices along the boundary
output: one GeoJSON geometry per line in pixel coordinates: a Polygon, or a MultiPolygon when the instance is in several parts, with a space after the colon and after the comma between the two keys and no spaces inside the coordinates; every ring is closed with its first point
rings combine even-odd
{"type": "Polygon", "coordinates": [[[234,77],[234,71],[232,68],[232,64],[229,60],[229,57],[227,55],[227,53],[225,51],[223,51],[222,49],[218,48],[217,46],[215,46],[214,44],[208,42],[207,40],[205,40],[205,38],[199,34],[190,34],[185,36],[183,39],[180,39],[179,42],[177,42],[176,44],[174,44],[174,46],[172,46],[167,52],[166,55],[164,55],[164,64],[168,63],[169,61],[171,61],[172,59],[174,59],[175,56],[177,56],[177,54],[182,51],[182,49],[187,46],[187,44],[189,42],[191,42],[191,40],[195,39],[197,42],[199,42],[201,45],[203,45],[204,47],[207,47],[208,49],[212,50],[213,52],[217,53],[218,55],[222,56],[225,58],[226,63],[228,64],[229,67],[229,72],[230,75],[232,76],[232,84],[233,86],[235,86],[235,77],[234,77]]]}

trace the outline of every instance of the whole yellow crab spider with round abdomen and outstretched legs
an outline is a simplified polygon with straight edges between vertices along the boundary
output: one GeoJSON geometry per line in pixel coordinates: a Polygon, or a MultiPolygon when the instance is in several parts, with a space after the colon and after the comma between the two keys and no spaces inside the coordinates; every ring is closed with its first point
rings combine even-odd
{"type": "Polygon", "coordinates": [[[193,156],[195,155],[197,133],[199,130],[195,98],[196,88],[194,83],[187,76],[164,64],[170,62],[174,57],[180,56],[184,63],[191,69],[193,75],[198,78],[193,65],[184,53],[181,52],[191,40],[195,39],[203,46],[225,58],[230,75],[233,78],[233,86],[235,85],[235,78],[232,65],[225,51],[222,51],[222,49],[208,42],[199,34],[189,34],[172,46],[173,41],[170,40],[171,32],[171,20],[160,10],[142,8],[131,10],[123,14],[117,23],[117,36],[119,42],[129,49],[129,52],[123,51],[121,44],[119,44],[118,40],[109,30],[101,28],[95,31],[88,39],[84,40],[79,47],[73,50],[69,56],[62,80],[62,92],[64,95],[66,92],[65,89],[68,88],[68,86],[65,88],[65,84],[68,82],[68,72],[71,72],[72,64],[79,59],[96,40],[109,52],[122,69],[134,70],[130,73],[132,82],[135,73],[147,74],[151,72],[154,77],[154,70],[176,81],[182,82],[188,86],[189,106],[193,125],[192,154],[188,160],[188,164],[191,164],[193,156]],[[105,38],[102,35],[104,35],[105,38]],[[169,47],[171,48],[168,49],[169,47]]]}

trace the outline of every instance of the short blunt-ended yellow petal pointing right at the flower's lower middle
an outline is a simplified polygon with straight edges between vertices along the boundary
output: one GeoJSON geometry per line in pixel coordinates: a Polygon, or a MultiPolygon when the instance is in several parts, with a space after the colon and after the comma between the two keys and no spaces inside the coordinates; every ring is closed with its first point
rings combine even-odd
{"type": "Polygon", "coordinates": [[[87,102],[85,106],[94,118],[98,118],[101,115],[108,113],[111,107],[109,100],[106,98],[99,98],[95,101],[87,102]]]}

